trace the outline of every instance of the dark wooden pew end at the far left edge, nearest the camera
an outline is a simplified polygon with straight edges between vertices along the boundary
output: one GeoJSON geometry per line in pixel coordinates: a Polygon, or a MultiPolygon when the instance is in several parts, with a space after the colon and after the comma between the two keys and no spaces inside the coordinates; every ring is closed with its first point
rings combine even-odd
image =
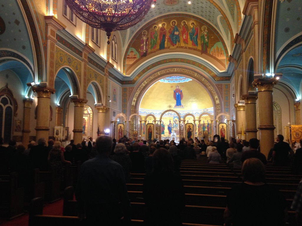
{"type": "Polygon", "coordinates": [[[7,180],[0,180],[0,215],[13,219],[24,214],[24,188],[18,188],[18,173],[11,173],[7,180]]]}

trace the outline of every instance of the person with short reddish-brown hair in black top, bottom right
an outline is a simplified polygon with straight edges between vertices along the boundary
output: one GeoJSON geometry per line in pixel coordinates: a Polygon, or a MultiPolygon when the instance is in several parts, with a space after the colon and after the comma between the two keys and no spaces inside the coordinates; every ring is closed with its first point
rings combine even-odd
{"type": "Polygon", "coordinates": [[[244,182],[226,196],[225,226],[283,226],[286,199],[275,187],[265,184],[265,165],[256,158],[242,165],[244,182]]]}

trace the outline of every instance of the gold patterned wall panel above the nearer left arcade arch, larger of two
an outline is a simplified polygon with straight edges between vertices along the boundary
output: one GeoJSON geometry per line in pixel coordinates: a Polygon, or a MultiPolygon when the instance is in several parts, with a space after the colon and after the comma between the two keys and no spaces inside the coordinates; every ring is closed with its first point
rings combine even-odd
{"type": "Polygon", "coordinates": [[[76,73],[78,80],[81,81],[81,62],[56,47],[55,71],[57,72],[62,66],[69,66],[72,68],[72,70],[76,73]]]}

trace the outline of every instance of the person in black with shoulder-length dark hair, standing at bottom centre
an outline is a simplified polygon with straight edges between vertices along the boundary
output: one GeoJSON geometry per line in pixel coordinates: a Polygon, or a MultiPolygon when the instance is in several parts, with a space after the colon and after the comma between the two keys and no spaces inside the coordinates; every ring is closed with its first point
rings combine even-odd
{"type": "Polygon", "coordinates": [[[174,173],[172,156],[165,148],[153,154],[153,172],[145,175],[143,199],[146,204],[144,225],[182,225],[185,190],[180,175],[174,173]]]}

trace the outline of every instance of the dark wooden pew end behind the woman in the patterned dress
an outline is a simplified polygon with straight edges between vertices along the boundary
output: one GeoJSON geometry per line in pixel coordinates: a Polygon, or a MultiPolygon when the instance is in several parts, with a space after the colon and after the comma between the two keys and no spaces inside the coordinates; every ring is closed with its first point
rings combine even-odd
{"type": "Polygon", "coordinates": [[[45,200],[52,203],[61,198],[61,178],[56,168],[52,168],[49,172],[40,172],[40,180],[45,183],[45,200]]]}

